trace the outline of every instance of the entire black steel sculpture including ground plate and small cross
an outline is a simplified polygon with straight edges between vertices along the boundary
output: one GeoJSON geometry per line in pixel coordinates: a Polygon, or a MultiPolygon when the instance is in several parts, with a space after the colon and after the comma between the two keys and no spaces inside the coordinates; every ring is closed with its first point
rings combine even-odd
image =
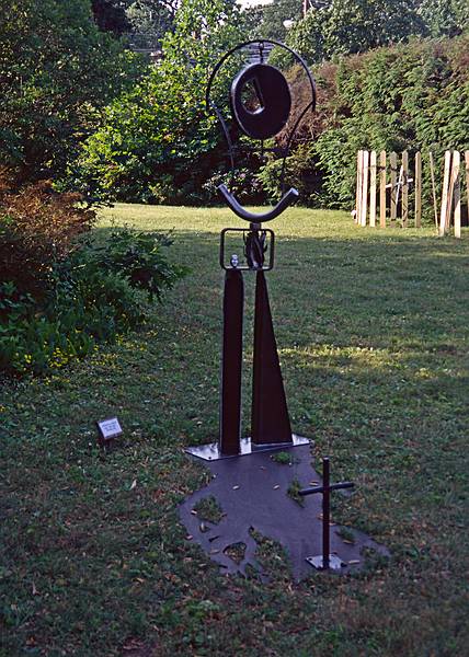
{"type": "MultiPolygon", "coordinates": [[[[260,151],[264,152],[263,140],[285,129],[290,115],[294,99],[288,84],[281,71],[266,64],[267,46],[272,45],[285,47],[266,41],[240,44],[220,59],[209,79],[207,108],[216,114],[225,132],[232,176],[237,152],[232,136],[241,131],[243,139],[258,139],[260,151]],[[244,49],[250,50],[251,61],[231,84],[229,105],[234,127],[230,132],[229,124],[211,100],[211,89],[225,62],[244,49]],[[255,61],[252,61],[253,53],[256,55],[255,61]],[[250,92],[247,94],[248,85],[250,92]],[[249,101],[256,99],[256,103],[249,102],[247,105],[247,95],[249,101]]],[[[228,186],[219,186],[228,207],[248,221],[249,228],[226,228],[221,231],[220,265],[226,274],[220,436],[218,442],[187,449],[191,454],[208,461],[211,477],[205,487],[194,492],[180,505],[179,512],[187,530],[186,539],[201,545],[221,572],[248,575],[254,568],[265,578],[266,574],[256,560],[259,537],[263,535],[285,548],[293,576],[301,579],[310,574],[310,564],[320,569],[338,568],[340,573],[347,573],[365,564],[367,552],[378,556],[388,556],[389,552],[363,532],[348,530],[346,540],[341,535],[341,528],[330,529],[330,492],[350,488],[353,484],[345,482],[331,485],[329,460],[324,459],[322,485],[317,486],[320,476],[312,469],[309,440],[293,435],[290,428],[265,278],[265,273],[274,266],[275,235],[263,223],[278,217],[298,198],[296,189],[285,189],[286,157],[301,119],[314,108],[311,74],[301,58],[295,53],[293,55],[309,80],[311,97],[299,108],[298,118],[288,134],[287,148],[283,149],[281,200],[268,211],[250,212],[228,186]],[[238,237],[242,234],[241,256],[230,253],[226,246],[226,238],[230,233],[238,233],[238,237]],[[254,272],[256,280],[251,438],[240,439],[244,270],[254,272]],[[293,450],[294,447],[297,449],[293,450]],[[277,454],[268,453],[273,449],[294,451],[295,457],[291,456],[290,461],[287,459],[288,465],[285,465],[285,454],[281,459],[277,454]],[[251,457],[232,458],[245,453],[251,457]],[[298,504],[294,495],[298,481],[310,482],[313,486],[300,491],[302,504],[298,504]],[[322,517],[319,516],[321,500],[313,493],[323,494],[322,517]],[[213,518],[208,521],[199,517],[198,504],[213,497],[220,507],[220,515],[218,520],[213,518]],[[308,556],[320,553],[321,533],[322,554],[308,556]]]]}

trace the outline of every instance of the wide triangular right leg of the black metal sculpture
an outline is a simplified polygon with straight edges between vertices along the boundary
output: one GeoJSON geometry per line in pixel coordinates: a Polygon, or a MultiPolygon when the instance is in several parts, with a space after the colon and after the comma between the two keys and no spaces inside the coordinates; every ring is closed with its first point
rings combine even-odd
{"type": "Polygon", "coordinates": [[[251,424],[256,446],[293,441],[264,272],[258,272],[255,280],[251,424]]]}

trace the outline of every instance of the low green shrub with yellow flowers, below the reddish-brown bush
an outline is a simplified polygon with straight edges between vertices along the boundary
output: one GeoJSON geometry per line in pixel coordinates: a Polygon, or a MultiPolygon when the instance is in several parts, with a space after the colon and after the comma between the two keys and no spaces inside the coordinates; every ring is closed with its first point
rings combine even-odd
{"type": "Polygon", "coordinates": [[[186,273],[161,252],[170,244],[168,235],[119,229],[104,244],[83,245],[57,263],[39,300],[2,284],[0,369],[24,374],[61,368],[139,326],[146,301],[161,301],[186,273]]]}

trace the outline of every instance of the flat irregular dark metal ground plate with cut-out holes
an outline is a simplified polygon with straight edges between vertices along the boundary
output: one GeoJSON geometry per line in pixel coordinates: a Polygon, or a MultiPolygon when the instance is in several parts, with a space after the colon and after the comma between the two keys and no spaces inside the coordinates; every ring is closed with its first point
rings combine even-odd
{"type": "MultiPolygon", "coordinates": [[[[320,485],[319,474],[311,465],[310,445],[283,448],[290,459],[276,459],[275,452],[251,451],[245,459],[205,460],[211,479],[180,505],[179,514],[187,531],[187,541],[197,543],[216,562],[224,574],[247,575],[254,568],[266,577],[258,561],[258,534],[281,544],[296,580],[314,570],[306,561],[322,553],[322,495],[309,495],[302,506],[288,493],[290,486],[320,485]],[[199,517],[197,504],[215,497],[222,516],[218,522],[199,517]],[[241,558],[232,556],[243,544],[241,558]],[[247,569],[248,568],[248,569],[247,569]]],[[[346,495],[346,492],[336,495],[346,495]]],[[[259,537],[258,537],[259,538],[259,537]]],[[[331,525],[331,553],[345,565],[336,574],[359,569],[369,558],[389,555],[384,545],[367,534],[331,525]]]]}

